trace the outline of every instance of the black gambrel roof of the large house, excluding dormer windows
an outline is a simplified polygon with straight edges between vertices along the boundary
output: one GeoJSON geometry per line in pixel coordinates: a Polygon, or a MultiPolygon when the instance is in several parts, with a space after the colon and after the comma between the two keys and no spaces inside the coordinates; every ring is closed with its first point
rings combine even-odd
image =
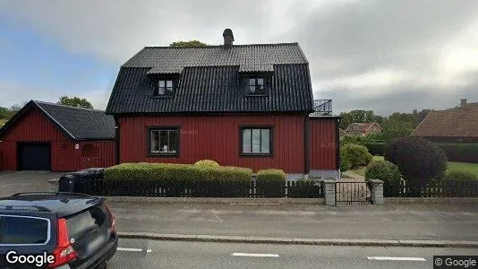
{"type": "Polygon", "coordinates": [[[106,112],[269,111],[313,111],[309,64],[297,43],[143,48],[121,66],[106,112]],[[272,73],[267,96],[243,94],[248,73],[272,73]],[[173,98],[152,98],[160,74],[181,74],[173,98]]]}

